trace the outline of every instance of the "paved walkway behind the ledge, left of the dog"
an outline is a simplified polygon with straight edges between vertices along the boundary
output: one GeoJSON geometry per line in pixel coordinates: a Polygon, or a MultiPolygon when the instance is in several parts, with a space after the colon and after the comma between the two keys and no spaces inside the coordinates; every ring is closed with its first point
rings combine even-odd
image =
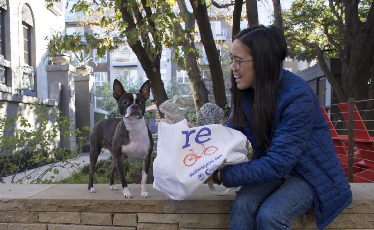
{"type": "MultiPolygon", "coordinates": [[[[34,168],[30,171],[25,171],[25,172],[22,172],[22,173],[18,173],[18,174],[16,174],[14,181],[16,181],[17,179],[24,178],[22,180],[22,183],[31,183],[33,181],[34,181],[33,183],[37,183],[36,179],[38,178],[39,175],[41,175],[43,173],[46,173],[46,174],[45,174],[45,176],[42,177],[42,180],[51,179],[53,182],[55,182],[56,180],[65,179],[66,177],[69,177],[70,174],[74,170],[78,170],[78,168],[76,167],[77,164],[80,164],[81,167],[85,164],[89,164],[89,162],[90,162],[90,153],[89,152],[82,152],[79,155],[80,155],[80,158],[73,159],[71,161],[71,163],[66,163],[66,162],[61,163],[61,162],[59,162],[59,163],[55,164],[55,166],[53,166],[53,168],[52,168],[52,171],[45,172],[46,170],[48,170],[49,167],[51,167],[51,165],[45,165],[45,166],[42,166],[42,167],[39,167],[39,168],[34,168]],[[59,173],[58,174],[53,173],[54,169],[57,169],[59,171],[59,173]],[[30,176],[31,176],[30,179],[26,179],[26,177],[30,177],[30,176]],[[54,177],[53,179],[52,179],[52,176],[54,177]]],[[[108,150],[105,150],[104,153],[101,153],[99,155],[98,160],[107,159],[110,156],[111,156],[110,152],[108,150]]],[[[4,182],[5,183],[11,183],[12,182],[12,177],[13,176],[4,177],[3,178],[4,182]]]]}

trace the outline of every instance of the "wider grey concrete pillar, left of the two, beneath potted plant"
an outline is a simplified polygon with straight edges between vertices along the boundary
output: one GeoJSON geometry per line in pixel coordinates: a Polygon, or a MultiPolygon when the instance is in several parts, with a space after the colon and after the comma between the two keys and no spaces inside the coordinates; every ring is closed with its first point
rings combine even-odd
{"type": "MultiPolygon", "coordinates": [[[[75,84],[74,73],[75,67],[70,64],[63,65],[47,65],[47,79],[48,79],[48,95],[51,97],[55,88],[53,85],[56,83],[61,84],[61,100],[59,103],[59,110],[62,111],[62,116],[68,117],[71,121],[70,129],[76,129],[76,105],[75,105],[75,84]]],[[[64,133],[60,134],[61,147],[72,150],[76,146],[76,139],[71,136],[64,137],[64,133]]]]}

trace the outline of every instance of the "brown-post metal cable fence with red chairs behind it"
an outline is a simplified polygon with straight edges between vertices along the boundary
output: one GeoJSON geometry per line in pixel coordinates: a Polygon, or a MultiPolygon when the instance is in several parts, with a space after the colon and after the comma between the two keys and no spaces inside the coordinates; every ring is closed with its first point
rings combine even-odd
{"type": "Polygon", "coordinates": [[[321,107],[348,182],[374,182],[374,109],[368,104],[374,99],[321,107]]]}

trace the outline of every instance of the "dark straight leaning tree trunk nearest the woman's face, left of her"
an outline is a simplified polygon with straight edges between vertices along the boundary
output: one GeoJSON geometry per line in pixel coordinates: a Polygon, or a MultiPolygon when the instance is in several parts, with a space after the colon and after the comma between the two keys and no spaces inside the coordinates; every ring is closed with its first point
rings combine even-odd
{"type": "Polygon", "coordinates": [[[215,103],[225,111],[225,116],[230,115],[230,110],[227,109],[227,98],[225,93],[225,84],[223,80],[222,67],[220,57],[218,56],[217,48],[212,34],[212,29],[209,23],[209,16],[206,10],[205,2],[195,2],[190,0],[193,13],[196,17],[197,25],[201,35],[201,41],[206,51],[206,57],[209,63],[209,69],[212,75],[212,85],[215,103]]]}

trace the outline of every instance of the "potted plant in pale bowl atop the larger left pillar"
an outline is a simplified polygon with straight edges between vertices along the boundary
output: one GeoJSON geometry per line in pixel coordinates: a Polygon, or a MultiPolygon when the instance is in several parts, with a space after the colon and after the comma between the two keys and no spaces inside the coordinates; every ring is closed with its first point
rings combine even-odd
{"type": "Polygon", "coordinates": [[[58,32],[55,35],[52,35],[51,38],[46,37],[45,40],[48,40],[47,50],[50,57],[50,60],[53,63],[64,64],[70,61],[70,54],[65,52],[65,43],[64,36],[60,35],[58,32]]]}

